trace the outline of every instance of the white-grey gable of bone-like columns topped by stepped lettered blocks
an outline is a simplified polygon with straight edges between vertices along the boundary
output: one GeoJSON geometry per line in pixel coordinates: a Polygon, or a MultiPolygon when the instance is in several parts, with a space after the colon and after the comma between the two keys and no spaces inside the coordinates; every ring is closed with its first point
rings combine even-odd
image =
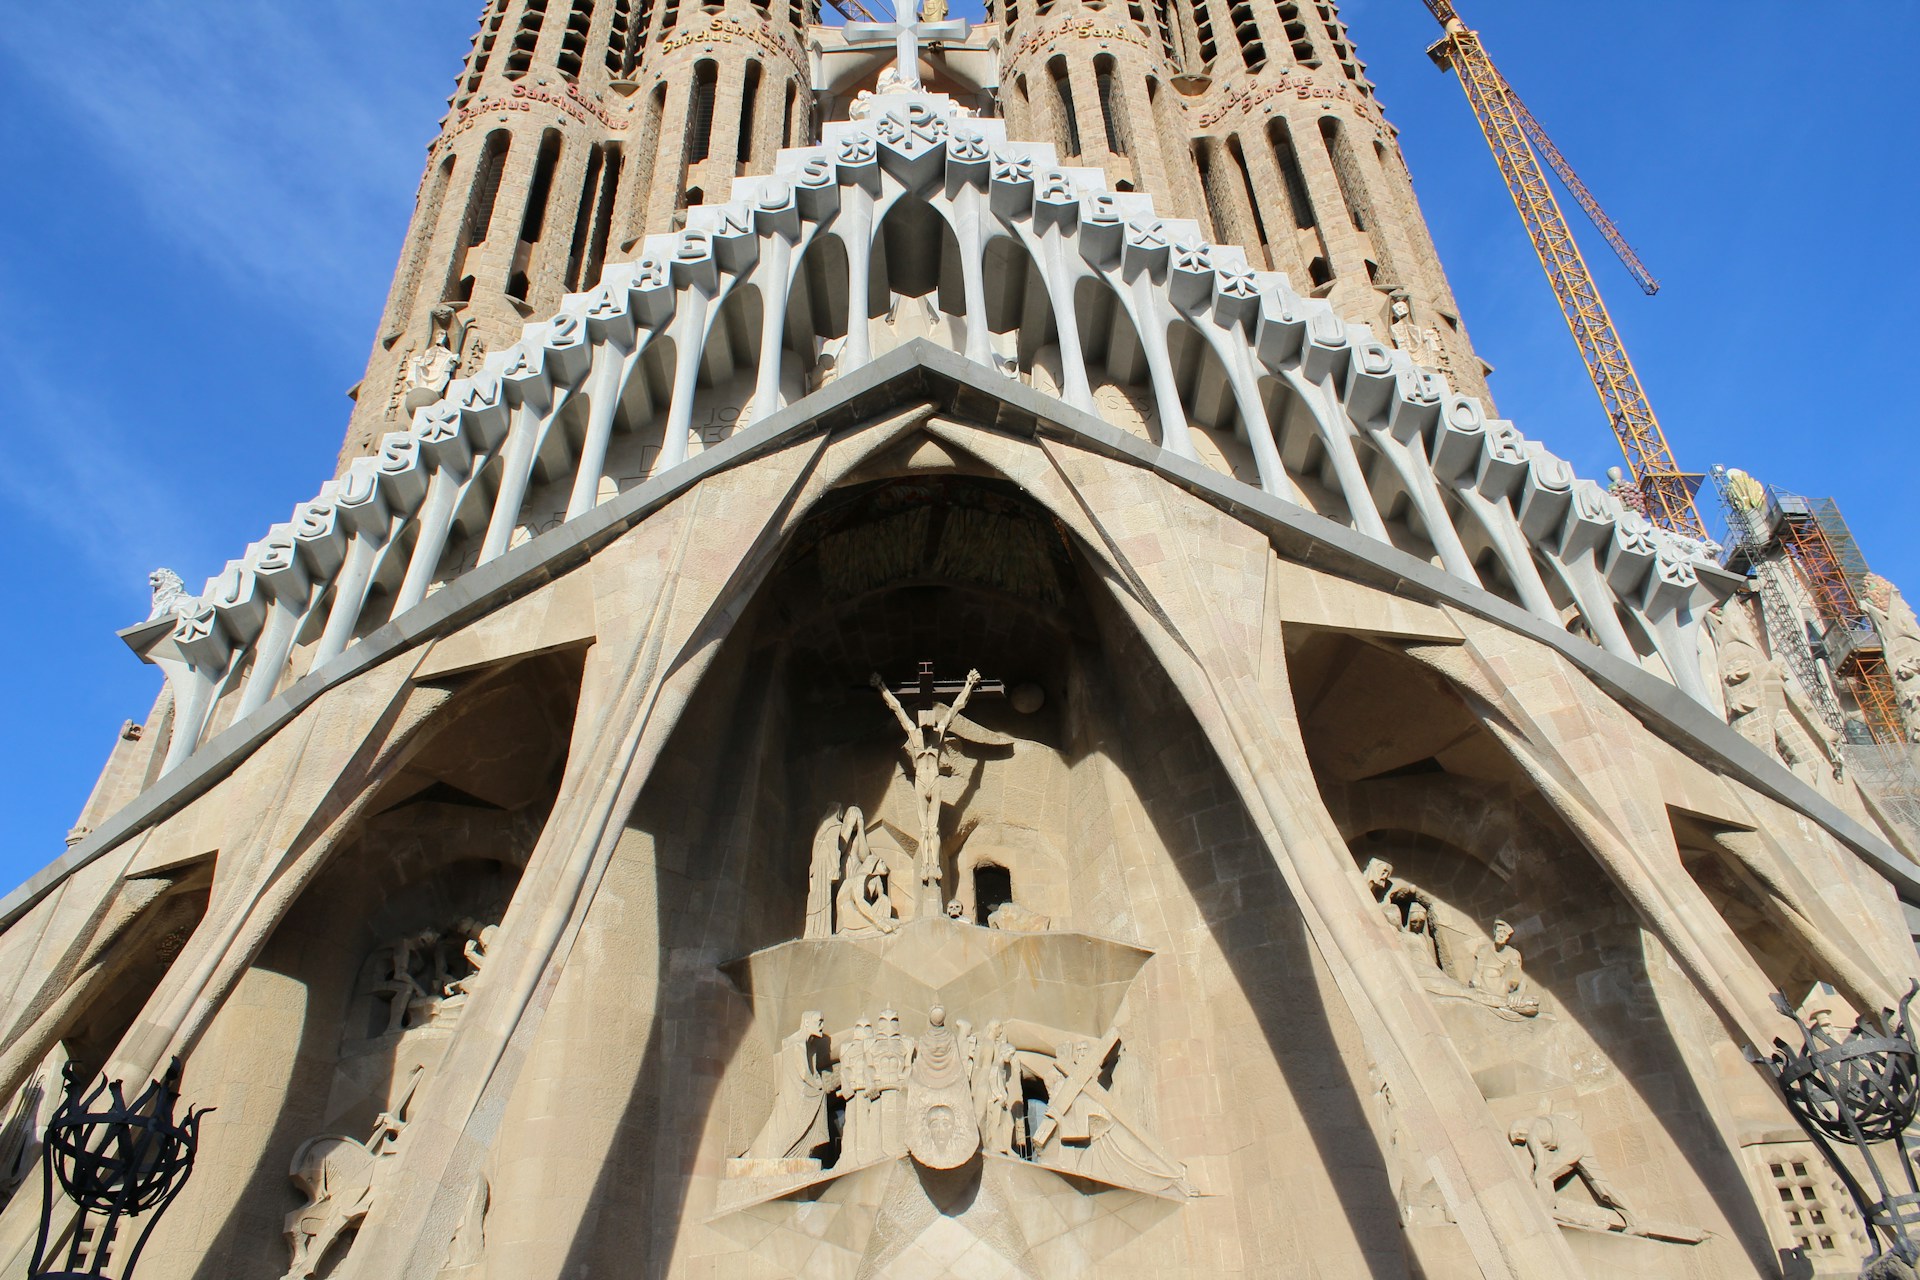
{"type": "Polygon", "coordinates": [[[989,246],[1008,240],[1031,263],[1029,288],[1044,290],[1069,405],[1098,415],[1077,315],[1077,290],[1092,282],[1140,338],[1167,453],[1196,457],[1167,351],[1169,326],[1183,324],[1219,361],[1260,487],[1306,505],[1277,441],[1281,424],[1267,416],[1261,382],[1277,380],[1311,413],[1357,532],[1390,543],[1386,507],[1405,493],[1442,568],[1480,585],[1459,533],[1467,522],[1486,535],[1524,608],[1559,626],[1551,581],[1601,647],[1632,658],[1620,622],[1628,618],[1674,683],[1711,704],[1692,660],[1701,606],[1715,595],[1701,578],[1713,578],[1707,545],[1624,510],[1509,422],[1490,420],[1478,401],[1455,395],[1440,372],[1300,297],[1284,274],[1256,273],[1242,251],[1206,244],[1196,225],[1158,217],[1148,196],[1108,192],[1098,171],[1060,167],[1052,146],[1008,140],[1002,121],[972,119],[939,94],[893,94],[874,100],[868,119],[829,125],[822,146],[781,152],[770,177],[737,180],[733,201],[691,209],[685,230],[649,236],[636,261],[609,267],[551,319],[528,324],[273,526],[182,604],[171,629],[142,631],[136,649],[175,683],[167,766],[192,752],[215,708],[244,716],[273,697],[298,641],[311,643],[311,664],[330,662],[436,581],[503,555],[538,459],[547,459],[549,476],[563,472],[564,518],[591,510],[618,424],[639,430],[632,405],[649,367],[670,370],[666,407],[655,401],[647,424],[660,430],[653,470],[682,464],[699,368],[735,292],[751,290],[760,309],[747,336],[758,344],[760,413],[787,399],[781,353],[816,345],[812,332],[789,332],[791,307],[803,296],[801,273],[829,240],[845,249],[837,372],[872,359],[858,313],[876,236],[906,198],[925,200],[954,236],[966,305],[958,345],[968,359],[1020,372],[1020,359],[1008,367],[995,357],[989,324],[985,261],[989,246]],[[455,530],[468,551],[449,568],[455,530]]]}

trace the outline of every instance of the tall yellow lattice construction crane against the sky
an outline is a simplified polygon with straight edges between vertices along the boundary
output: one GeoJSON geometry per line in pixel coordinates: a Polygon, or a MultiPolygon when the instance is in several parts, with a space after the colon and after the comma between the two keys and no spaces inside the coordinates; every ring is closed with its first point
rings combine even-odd
{"type": "Polygon", "coordinates": [[[1553,286],[1553,296],[1567,317],[1567,328],[1572,330],[1574,345],[1580,347],[1580,359],[1586,361],[1586,372],[1594,380],[1594,390],[1607,411],[1607,420],[1613,422],[1613,434],[1626,455],[1628,472],[1644,497],[1647,516],[1661,528],[1705,537],[1707,526],[1701,524],[1699,512],[1693,510],[1693,491],[1699,487],[1701,478],[1682,472],[1674,461],[1674,451],[1661,432],[1659,418],[1653,416],[1653,405],[1647,403],[1647,393],[1640,386],[1640,374],[1634,372],[1634,363],[1626,359],[1626,344],[1620,342],[1620,334],[1613,328],[1607,303],[1599,299],[1599,286],[1594,284],[1594,273],[1588,271],[1586,259],[1580,257],[1580,246],[1574,244],[1567,217],[1561,213],[1559,201],[1553,200],[1548,177],[1540,167],[1540,154],[1548,157],[1553,171],[1567,182],[1567,190],[1572,192],[1580,207],[1594,219],[1599,234],[1620,255],[1620,261],[1634,274],[1634,280],[1640,282],[1640,288],[1653,294],[1659,290],[1659,282],[1640,263],[1640,257],[1626,244],[1626,238],[1620,236],[1613,221],[1607,219],[1599,201],[1594,200],[1594,194],[1574,175],[1572,165],[1567,163],[1567,157],[1548,138],[1540,121],[1521,104],[1519,96],[1494,67],[1494,61],[1486,56],[1486,46],[1480,44],[1478,33],[1461,21],[1452,0],[1425,0],[1425,4],[1446,31],[1427,50],[1427,56],[1442,71],[1453,71],[1459,77],[1459,86],[1467,90],[1467,104],[1473,107],[1475,119],[1480,121],[1480,132],[1486,134],[1486,146],[1494,152],[1500,177],[1507,180],[1513,205],[1521,211],[1521,221],[1526,223],[1534,253],[1540,255],[1540,265],[1548,273],[1548,284],[1553,286]],[[1532,146],[1528,146],[1528,138],[1532,146]]]}

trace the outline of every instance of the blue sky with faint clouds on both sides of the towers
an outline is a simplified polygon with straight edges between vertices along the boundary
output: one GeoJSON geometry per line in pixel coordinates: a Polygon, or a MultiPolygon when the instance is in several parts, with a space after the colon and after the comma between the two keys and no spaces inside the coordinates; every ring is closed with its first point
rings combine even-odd
{"type": "MultiPolygon", "coordinates": [[[[63,0],[0,23],[0,889],[159,676],[113,635],[332,472],[472,0],[63,0]]],[[[954,6],[956,10],[977,6],[954,6]]],[[[1500,411],[1619,453],[1419,0],[1348,0],[1500,411]]],[[[1920,6],[1463,0],[1665,288],[1590,261],[1684,466],[1839,499],[1920,593],[1920,6]],[[1907,317],[1907,319],[1903,319],[1907,317]]],[[[1584,232],[1584,226],[1580,228],[1584,232]]]]}

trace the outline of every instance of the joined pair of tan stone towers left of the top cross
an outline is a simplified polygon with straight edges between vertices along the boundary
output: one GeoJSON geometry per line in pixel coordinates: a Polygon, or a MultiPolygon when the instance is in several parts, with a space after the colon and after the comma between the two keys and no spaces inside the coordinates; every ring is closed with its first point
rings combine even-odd
{"type": "Polygon", "coordinates": [[[340,466],[639,236],[772,169],[808,129],[816,10],[490,0],[426,150],[340,466]]]}

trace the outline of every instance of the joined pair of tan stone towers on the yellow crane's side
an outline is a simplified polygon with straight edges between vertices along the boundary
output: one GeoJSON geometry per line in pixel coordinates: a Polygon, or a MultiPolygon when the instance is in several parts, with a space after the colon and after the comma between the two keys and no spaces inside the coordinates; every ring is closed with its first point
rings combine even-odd
{"type": "Polygon", "coordinates": [[[1016,132],[1202,219],[1486,397],[1394,127],[1332,0],[995,0],[1016,132]]]}

